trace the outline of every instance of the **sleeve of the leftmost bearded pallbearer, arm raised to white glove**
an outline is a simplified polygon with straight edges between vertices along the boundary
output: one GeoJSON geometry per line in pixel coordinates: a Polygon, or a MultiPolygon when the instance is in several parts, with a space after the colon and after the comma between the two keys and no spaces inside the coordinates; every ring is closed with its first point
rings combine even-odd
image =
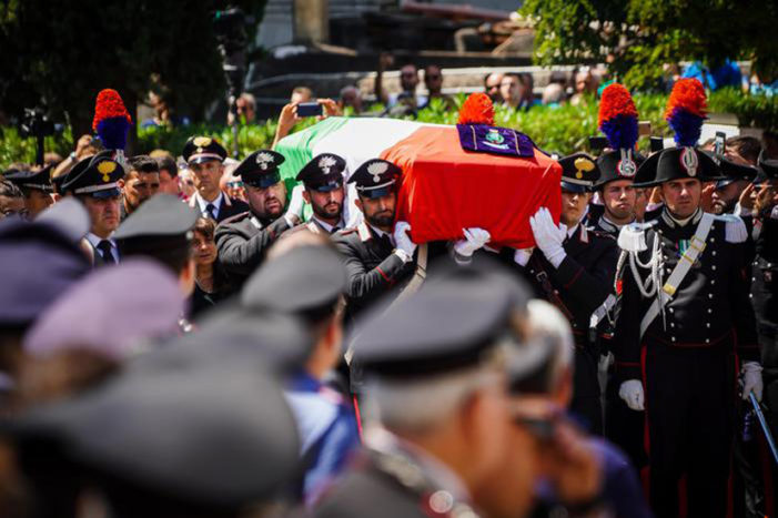
{"type": "Polygon", "coordinates": [[[267,247],[289,228],[286,219],[279,217],[256,235],[246,238],[233,225],[219,225],[215,233],[219,264],[228,273],[251,274],[264,258],[267,247]]]}

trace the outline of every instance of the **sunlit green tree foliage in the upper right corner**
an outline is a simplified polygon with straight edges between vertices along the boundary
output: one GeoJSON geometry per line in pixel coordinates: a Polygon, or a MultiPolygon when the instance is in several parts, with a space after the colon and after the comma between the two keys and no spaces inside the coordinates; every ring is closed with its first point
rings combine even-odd
{"type": "Polygon", "coordinates": [[[656,85],[663,65],[752,60],[778,79],[775,0],[525,0],[542,64],[609,62],[632,87],[656,85]]]}

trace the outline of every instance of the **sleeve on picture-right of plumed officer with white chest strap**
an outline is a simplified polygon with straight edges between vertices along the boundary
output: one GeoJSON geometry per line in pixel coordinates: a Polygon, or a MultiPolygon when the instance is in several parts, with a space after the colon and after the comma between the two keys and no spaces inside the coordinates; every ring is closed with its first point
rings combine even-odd
{"type": "Polygon", "coordinates": [[[732,303],[732,319],[737,333],[737,351],[740,362],[758,362],[757,323],[751,305],[750,278],[746,268],[746,243],[732,244],[734,272],[729,275],[729,293],[732,303]]]}

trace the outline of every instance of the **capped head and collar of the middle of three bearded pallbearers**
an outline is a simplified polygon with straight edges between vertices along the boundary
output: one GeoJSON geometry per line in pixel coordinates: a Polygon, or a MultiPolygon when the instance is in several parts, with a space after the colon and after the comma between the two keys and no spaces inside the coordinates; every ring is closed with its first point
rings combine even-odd
{"type": "Polygon", "coordinates": [[[307,228],[313,233],[334,234],[343,230],[343,173],[346,161],[332,153],[314,156],[297,174],[303,182],[303,197],[311,204],[313,214],[305,225],[294,228],[307,228]]]}

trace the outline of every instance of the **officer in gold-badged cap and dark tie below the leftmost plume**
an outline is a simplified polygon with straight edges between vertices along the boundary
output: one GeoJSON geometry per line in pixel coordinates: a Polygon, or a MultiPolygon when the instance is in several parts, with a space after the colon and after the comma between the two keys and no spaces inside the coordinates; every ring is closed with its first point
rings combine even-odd
{"type": "Polygon", "coordinates": [[[111,159],[110,151],[104,151],[77,163],[62,184],[63,191],[83,203],[92,220],[87,241],[92,246],[94,266],[119,263],[113,232],[120,222],[119,181],[123,176],[124,169],[111,159]]]}

